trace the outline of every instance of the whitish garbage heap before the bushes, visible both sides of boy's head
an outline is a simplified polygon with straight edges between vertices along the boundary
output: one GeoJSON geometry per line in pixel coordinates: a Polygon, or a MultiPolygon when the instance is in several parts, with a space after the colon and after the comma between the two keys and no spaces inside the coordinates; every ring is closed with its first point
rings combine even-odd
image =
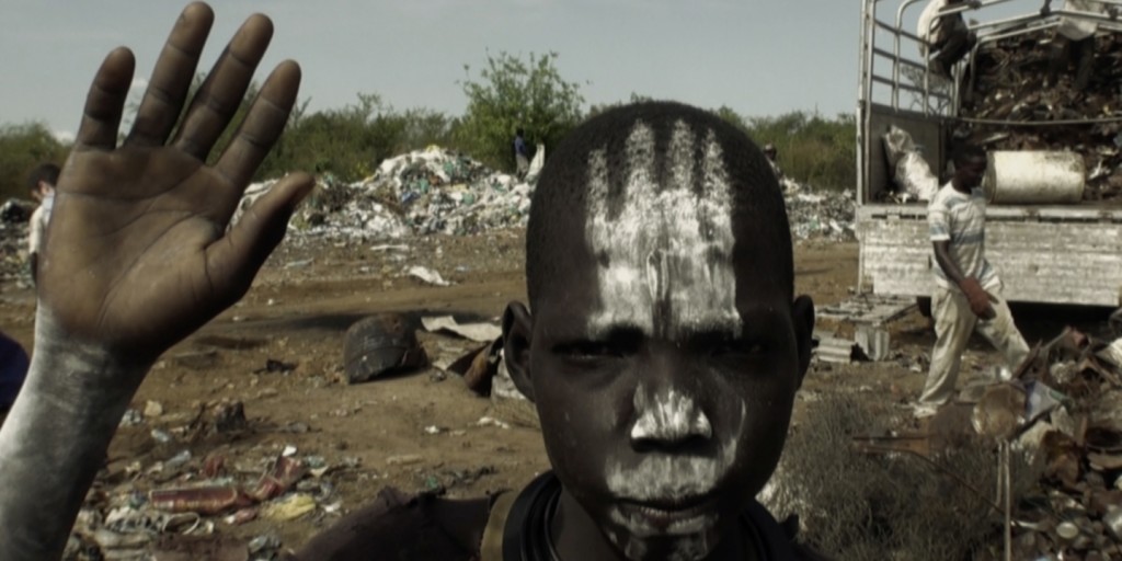
{"type": "MultiPolygon", "coordinates": [[[[373,241],[524,227],[540,171],[537,156],[526,178],[518,180],[445,148],[415,150],[386,159],[373,177],[361,182],[343,184],[320,177],[294,218],[291,233],[373,241]]],[[[250,185],[239,213],[273,183],[250,185]]],[[[815,191],[792,181],[784,185],[795,239],[854,239],[852,191],[815,191]]]]}

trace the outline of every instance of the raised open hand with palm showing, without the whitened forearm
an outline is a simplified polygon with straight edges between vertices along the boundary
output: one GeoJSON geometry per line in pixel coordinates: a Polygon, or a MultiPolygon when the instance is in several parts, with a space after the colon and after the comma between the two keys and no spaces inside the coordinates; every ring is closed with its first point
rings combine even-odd
{"type": "Polygon", "coordinates": [[[212,21],[204,3],[183,10],[121,146],[132,54],[110,53],[94,77],[39,265],[40,303],[66,337],[155,359],[245,294],[313,186],[304,174],[283,180],[227,231],[287,121],[301,73],[294,62],[279,64],[206,166],[273,35],[268,18],[250,17],[181,120],[212,21]]]}

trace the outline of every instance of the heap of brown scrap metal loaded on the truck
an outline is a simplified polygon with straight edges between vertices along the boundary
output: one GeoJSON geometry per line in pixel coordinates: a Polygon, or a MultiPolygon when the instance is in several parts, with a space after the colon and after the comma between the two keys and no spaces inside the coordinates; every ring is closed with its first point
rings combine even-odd
{"type": "Polygon", "coordinates": [[[959,123],[956,138],[994,150],[1075,150],[1087,169],[1086,201],[1122,204],[1122,37],[1096,39],[1085,92],[1074,71],[1050,73],[1055,42],[1041,30],[984,45],[967,76],[960,116],[997,121],[959,123]],[[1021,126],[1024,122],[1054,125],[1021,126]]]}

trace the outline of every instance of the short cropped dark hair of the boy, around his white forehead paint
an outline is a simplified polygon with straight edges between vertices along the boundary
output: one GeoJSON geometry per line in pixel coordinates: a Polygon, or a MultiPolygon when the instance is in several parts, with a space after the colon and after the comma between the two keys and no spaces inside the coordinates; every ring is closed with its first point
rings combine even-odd
{"type": "MultiPolygon", "coordinates": [[[[594,117],[569,134],[548,158],[531,201],[526,228],[526,288],[531,307],[540,302],[546,280],[557,278],[568,265],[571,248],[558,246],[571,241],[574,230],[583,231],[592,153],[603,150],[606,155],[608,205],[616,204],[627,188],[626,144],[640,122],[654,135],[656,173],[652,180],[660,186],[674,181],[673,171],[665,163],[675,126],[684,123],[697,138],[709,136],[716,141],[728,175],[733,230],[749,228],[752,243],[766,243],[774,249],[776,260],[767,265],[775,269],[770,274],[789,286],[793,296],[794,266],[787,209],[775,174],[760,147],[711,112],[681,103],[649,101],[594,117]]],[[[693,155],[698,163],[705,157],[700,147],[693,155]]],[[[695,186],[698,188],[699,185],[695,186]]],[[[742,237],[737,234],[736,240],[739,243],[742,237]]]]}

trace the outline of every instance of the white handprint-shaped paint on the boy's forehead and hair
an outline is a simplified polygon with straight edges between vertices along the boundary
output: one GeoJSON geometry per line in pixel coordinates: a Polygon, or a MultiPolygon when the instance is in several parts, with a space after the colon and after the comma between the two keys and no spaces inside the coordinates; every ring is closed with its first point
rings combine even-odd
{"type": "Polygon", "coordinates": [[[606,149],[589,154],[586,237],[599,264],[599,302],[589,332],[600,337],[632,327],[671,339],[697,330],[738,335],[733,196],[716,135],[706,131],[699,145],[689,125],[675,122],[662,185],[655,150],[654,131],[636,121],[615,202],[610,193],[620,190],[611,188],[606,149]],[[693,188],[698,173],[700,193],[693,188]]]}

